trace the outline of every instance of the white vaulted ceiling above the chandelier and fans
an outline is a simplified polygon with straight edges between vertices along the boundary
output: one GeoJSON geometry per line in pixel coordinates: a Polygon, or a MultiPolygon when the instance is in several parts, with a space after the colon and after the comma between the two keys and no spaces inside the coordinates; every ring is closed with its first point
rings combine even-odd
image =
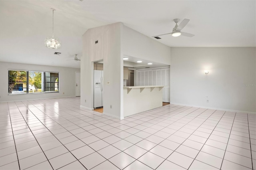
{"type": "Polygon", "coordinates": [[[89,28],[123,22],[152,37],[172,32],[173,19],[190,19],[182,30],[194,37],[162,36],[170,47],[255,47],[255,0],[0,0],[0,61],[80,68],[82,35],[89,28]],[[48,49],[44,39],[62,42],[48,49]],[[54,55],[61,52],[61,55],[54,55]]]}

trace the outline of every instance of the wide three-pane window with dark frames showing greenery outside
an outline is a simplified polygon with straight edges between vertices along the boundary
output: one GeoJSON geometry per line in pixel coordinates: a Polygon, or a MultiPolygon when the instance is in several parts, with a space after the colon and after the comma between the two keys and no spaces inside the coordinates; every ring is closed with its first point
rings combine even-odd
{"type": "Polygon", "coordinates": [[[44,71],[8,71],[8,94],[59,91],[59,73],[44,71]]]}

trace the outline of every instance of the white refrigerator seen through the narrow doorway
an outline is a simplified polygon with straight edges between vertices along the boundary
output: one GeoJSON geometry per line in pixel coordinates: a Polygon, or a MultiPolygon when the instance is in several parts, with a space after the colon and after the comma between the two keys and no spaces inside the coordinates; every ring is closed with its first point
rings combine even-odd
{"type": "Polygon", "coordinates": [[[103,70],[94,70],[94,108],[103,107],[103,70]]]}

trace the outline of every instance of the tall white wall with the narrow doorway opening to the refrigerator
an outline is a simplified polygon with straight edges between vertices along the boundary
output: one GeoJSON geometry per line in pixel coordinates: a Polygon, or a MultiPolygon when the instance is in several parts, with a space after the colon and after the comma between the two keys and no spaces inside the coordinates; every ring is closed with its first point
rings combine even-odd
{"type": "Polygon", "coordinates": [[[122,23],[115,23],[87,30],[83,35],[81,59],[81,106],[93,109],[93,62],[103,60],[104,114],[119,119],[123,118],[121,114],[121,90],[123,90],[123,61],[121,62],[120,58],[121,27],[122,23]],[[95,44],[96,40],[98,40],[97,44],[95,44]],[[112,105],[111,109],[110,105],[112,105]]]}

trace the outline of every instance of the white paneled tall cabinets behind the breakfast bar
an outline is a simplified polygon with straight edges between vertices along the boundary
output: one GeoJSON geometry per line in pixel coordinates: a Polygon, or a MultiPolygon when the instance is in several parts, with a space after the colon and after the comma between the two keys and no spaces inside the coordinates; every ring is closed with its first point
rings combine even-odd
{"type": "Polygon", "coordinates": [[[170,68],[138,70],[137,85],[164,85],[163,102],[170,102],[170,68]]]}

